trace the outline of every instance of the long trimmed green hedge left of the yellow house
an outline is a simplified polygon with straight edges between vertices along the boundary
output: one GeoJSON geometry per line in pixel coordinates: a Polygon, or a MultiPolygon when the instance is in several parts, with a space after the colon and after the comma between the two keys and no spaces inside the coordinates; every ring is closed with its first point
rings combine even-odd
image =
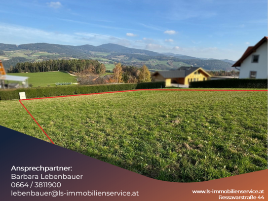
{"type": "Polygon", "coordinates": [[[26,98],[66,96],[76,94],[101,93],[108,91],[124,91],[133,89],[164,88],[165,82],[143,82],[104,85],[55,86],[38,88],[20,88],[0,90],[0,100],[19,99],[19,92],[25,91],[26,98]]]}

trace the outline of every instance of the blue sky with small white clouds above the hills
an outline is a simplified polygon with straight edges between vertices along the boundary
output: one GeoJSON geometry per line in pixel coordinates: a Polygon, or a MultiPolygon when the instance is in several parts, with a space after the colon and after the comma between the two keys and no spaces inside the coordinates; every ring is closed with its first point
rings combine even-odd
{"type": "Polygon", "coordinates": [[[268,30],[267,0],[1,0],[0,43],[116,43],[241,57],[268,30]]]}

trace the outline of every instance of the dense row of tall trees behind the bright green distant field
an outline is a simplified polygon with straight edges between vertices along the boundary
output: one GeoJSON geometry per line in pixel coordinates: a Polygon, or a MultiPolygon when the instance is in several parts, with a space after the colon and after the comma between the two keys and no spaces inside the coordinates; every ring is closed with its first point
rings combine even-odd
{"type": "Polygon", "coordinates": [[[106,67],[104,64],[91,59],[72,59],[72,60],[47,60],[41,62],[17,63],[15,67],[10,66],[8,73],[38,73],[49,71],[68,71],[80,73],[89,70],[93,74],[104,74],[106,67]]]}

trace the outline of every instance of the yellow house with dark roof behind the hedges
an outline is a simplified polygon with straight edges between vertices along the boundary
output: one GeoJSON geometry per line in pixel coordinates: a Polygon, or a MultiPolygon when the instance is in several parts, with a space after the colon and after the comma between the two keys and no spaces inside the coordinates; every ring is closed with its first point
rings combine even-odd
{"type": "Polygon", "coordinates": [[[156,71],[152,78],[155,81],[165,81],[166,86],[172,83],[188,85],[191,81],[208,80],[211,76],[202,68],[182,66],[174,71],[156,71]]]}

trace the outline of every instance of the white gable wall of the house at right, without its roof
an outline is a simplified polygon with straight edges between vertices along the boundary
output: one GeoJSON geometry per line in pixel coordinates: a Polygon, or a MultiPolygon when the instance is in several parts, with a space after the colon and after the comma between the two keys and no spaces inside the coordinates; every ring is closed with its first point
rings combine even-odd
{"type": "Polygon", "coordinates": [[[267,75],[268,75],[267,59],[268,59],[267,42],[264,42],[256,50],[256,52],[253,52],[241,63],[239,79],[249,78],[250,71],[257,71],[256,79],[267,79],[267,75]],[[258,63],[251,62],[252,55],[259,55],[258,63]]]}

